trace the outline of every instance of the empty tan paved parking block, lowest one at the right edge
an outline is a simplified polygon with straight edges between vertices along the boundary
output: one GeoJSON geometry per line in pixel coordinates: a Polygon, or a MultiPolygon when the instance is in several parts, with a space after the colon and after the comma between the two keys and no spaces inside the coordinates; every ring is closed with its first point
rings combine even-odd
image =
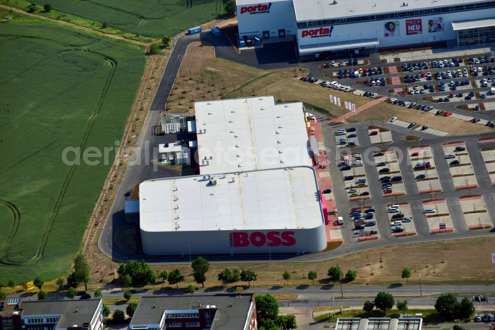
{"type": "Polygon", "coordinates": [[[461,196],[459,203],[464,214],[464,220],[469,229],[484,229],[492,227],[492,220],[487,211],[485,200],[481,195],[461,196]]]}

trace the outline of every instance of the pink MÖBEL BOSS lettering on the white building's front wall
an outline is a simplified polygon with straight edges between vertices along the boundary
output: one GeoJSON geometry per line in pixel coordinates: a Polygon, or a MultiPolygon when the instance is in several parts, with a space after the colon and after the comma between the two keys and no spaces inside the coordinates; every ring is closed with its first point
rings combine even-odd
{"type": "Polygon", "coordinates": [[[254,231],[250,234],[247,232],[236,231],[230,233],[230,246],[293,246],[296,244],[294,234],[294,231],[269,231],[265,236],[265,234],[261,231],[254,231]]]}

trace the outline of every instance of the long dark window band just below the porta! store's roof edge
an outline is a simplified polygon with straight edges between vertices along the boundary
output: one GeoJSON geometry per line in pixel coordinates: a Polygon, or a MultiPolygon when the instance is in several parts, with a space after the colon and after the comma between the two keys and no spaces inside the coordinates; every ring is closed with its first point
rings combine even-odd
{"type": "Polygon", "coordinates": [[[324,25],[338,25],[338,24],[346,24],[353,22],[369,22],[369,21],[380,21],[383,19],[390,18],[402,18],[402,17],[417,17],[422,15],[433,15],[439,13],[450,13],[450,12],[459,12],[459,11],[467,11],[467,10],[476,10],[483,8],[494,8],[495,1],[485,1],[480,3],[468,3],[468,4],[459,4],[452,5],[446,7],[434,7],[428,9],[418,9],[418,10],[408,10],[408,11],[397,11],[390,12],[386,14],[376,14],[376,15],[365,15],[365,16],[356,16],[356,17],[343,17],[336,19],[322,19],[316,21],[308,21],[308,22],[299,22],[297,23],[298,29],[305,29],[307,27],[313,26],[324,26],[324,25]]]}

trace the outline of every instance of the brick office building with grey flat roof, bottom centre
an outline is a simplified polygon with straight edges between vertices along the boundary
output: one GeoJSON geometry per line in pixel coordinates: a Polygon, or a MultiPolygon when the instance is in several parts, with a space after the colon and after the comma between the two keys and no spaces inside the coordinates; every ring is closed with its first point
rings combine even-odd
{"type": "Polygon", "coordinates": [[[129,330],[256,330],[254,294],[142,297],[129,330]]]}

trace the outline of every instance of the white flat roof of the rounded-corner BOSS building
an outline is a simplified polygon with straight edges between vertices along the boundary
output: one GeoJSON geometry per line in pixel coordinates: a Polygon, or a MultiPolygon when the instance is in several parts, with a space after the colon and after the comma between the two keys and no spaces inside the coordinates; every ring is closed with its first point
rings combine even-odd
{"type": "Polygon", "coordinates": [[[152,179],[139,188],[140,226],[150,232],[314,228],[324,221],[319,196],[309,166],[152,179]]]}

